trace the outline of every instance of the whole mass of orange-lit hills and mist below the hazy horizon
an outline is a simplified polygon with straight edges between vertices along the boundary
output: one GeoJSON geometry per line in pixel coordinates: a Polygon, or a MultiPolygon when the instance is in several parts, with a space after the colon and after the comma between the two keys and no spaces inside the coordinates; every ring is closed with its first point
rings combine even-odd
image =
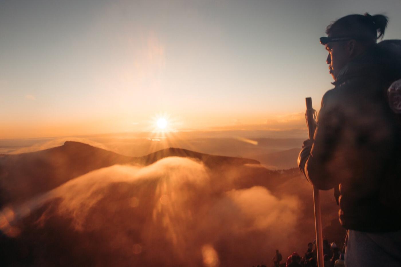
{"type": "MultiPolygon", "coordinates": [[[[3,155],[0,182],[6,266],[246,266],[314,239],[312,186],[252,159],[66,142],[3,155]]],[[[321,199],[324,235],[340,244],[332,192],[321,199]]]]}

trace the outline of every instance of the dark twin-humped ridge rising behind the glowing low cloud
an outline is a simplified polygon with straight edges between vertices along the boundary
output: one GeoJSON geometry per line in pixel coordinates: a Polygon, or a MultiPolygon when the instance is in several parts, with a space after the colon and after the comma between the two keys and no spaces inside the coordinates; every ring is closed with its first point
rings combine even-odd
{"type": "Polygon", "coordinates": [[[38,193],[90,171],[115,164],[149,165],[165,157],[189,157],[202,161],[208,167],[220,165],[260,164],[251,159],[213,156],[185,149],[163,149],[143,157],[128,157],[67,141],[60,147],[43,151],[2,155],[0,157],[0,207],[10,201],[23,201],[38,193]]]}

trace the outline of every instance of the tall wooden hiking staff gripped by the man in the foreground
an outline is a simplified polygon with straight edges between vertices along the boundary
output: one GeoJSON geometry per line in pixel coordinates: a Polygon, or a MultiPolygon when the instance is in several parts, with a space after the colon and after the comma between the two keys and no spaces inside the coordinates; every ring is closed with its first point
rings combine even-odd
{"type": "MultiPolygon", "coordinates": [[[[313,140],[315,133],[315,110],[312,107],[312,98],[306,100],[306,121],[308,125],[309,139],[313,140]]],[[[313,186],[313,207],[315,212],[315,231],[316,231],[316,249],[318,255],[318,267],[324,267],[323,259],[323,232],[322,232],[322,214],[320,213],[320,195],[319,189],[313,186]]]]}

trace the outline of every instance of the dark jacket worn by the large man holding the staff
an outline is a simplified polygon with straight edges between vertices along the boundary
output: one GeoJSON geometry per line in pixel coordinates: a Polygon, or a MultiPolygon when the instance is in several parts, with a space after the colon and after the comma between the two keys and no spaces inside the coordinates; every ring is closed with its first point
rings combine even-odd
{"type": "Polygon", "coordinates": [[[401,40],[354,58],[322,98],[312,150],[300,153],[307,179],[335,189],[346,229],[401,229],[401,125],[387,100],[400,78],[401,40]]]}

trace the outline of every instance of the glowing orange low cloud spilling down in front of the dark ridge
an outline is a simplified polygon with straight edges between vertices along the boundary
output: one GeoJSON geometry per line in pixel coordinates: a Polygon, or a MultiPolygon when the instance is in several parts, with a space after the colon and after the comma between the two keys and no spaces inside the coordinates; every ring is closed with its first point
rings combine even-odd
{"type": "Polygon", "coordinates": [[[298,199],[226,173],[176,157],[114,165],[8,205],[0,228],[36,266],[243,266],[297,246],[298,199]]]}

